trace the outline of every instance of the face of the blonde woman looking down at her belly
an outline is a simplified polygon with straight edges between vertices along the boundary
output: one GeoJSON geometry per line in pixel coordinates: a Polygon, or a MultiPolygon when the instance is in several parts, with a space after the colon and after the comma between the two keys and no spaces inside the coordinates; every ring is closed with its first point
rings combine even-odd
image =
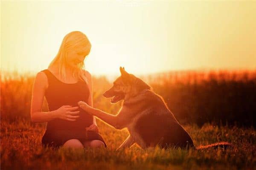
{"type": "Polygon", "coordinates": [[[84,62],[84,58],[89,54],[90,48],[85,51],[70,51],[67,54],[67,64],[70,67],[76,67],[80,62],[84,62]]]}

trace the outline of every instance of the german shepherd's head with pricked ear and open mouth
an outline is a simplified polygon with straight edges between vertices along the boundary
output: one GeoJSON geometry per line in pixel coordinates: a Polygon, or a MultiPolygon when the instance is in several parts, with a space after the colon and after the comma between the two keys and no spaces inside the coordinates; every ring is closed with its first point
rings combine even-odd
{"type": "Polygon", "coordinates": [[[106,91],[103,96],[111,98],[111,103],[116,103],[126,96],[135,96],[144,89],[151,89],[149,85],[143,82],[141,79],[135,77],[133,74],[129,74],[125,71],[125,68],[120,67],[121,76],[114,82],[113,86],[106,91]]]}

